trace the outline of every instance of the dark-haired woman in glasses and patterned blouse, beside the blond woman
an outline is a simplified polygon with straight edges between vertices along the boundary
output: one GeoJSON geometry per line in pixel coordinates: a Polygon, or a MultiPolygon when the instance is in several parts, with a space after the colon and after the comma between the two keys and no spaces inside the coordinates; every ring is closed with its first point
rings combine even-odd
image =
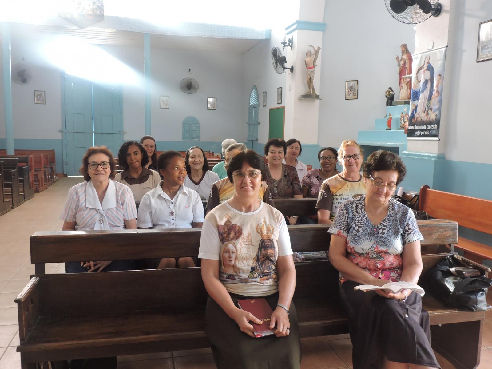
{"type": "Polygon", "coordinates": [[[338,174],[337,158],[337,150],[332,147],[324,147],[318,152],[321,168],[307,171],[301,182],[304,198],[317,198],[323,181],[338,174]]]}

